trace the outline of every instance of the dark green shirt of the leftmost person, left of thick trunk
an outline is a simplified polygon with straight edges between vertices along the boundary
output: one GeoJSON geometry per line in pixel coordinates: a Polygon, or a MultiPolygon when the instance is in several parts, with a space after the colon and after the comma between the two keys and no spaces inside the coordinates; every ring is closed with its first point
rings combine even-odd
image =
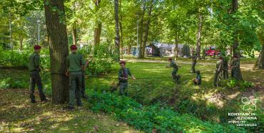
{"type": "Polygon", "coordinates": [[[32,71],[40,71],[39,69],[39,63],[40,63],[40,59],[39,59],[39,53],[32,53],[29,56],[29,63],[28,63],[28,68],[29,70],[32,71]]]}

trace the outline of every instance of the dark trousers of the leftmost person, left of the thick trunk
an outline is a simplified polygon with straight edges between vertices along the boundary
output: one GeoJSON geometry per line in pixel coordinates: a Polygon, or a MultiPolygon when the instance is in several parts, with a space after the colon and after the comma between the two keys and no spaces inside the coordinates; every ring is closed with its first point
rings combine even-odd
{"type": "Polygon", "coordinates": [[[31,102],[35,101],[34,92],[36,85],[39,89],[39,97],[41,98],[41,101],[46,100],[46,96],[42,90],[41,76],[39,75],[39,72],[36,72],[30,74],[29,97],[31,98],[31,102]]]}

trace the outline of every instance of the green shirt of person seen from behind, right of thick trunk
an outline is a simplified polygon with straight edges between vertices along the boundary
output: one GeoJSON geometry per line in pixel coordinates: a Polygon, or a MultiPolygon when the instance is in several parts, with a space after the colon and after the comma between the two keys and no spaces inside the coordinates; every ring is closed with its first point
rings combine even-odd
{"type": "Polygon", "coordinates": [[[68,72],[81,72],[82,65],[85,65],[85,60],[83,60],[83,55],[71,53],[66,58],[66,64],[68,72]]]}

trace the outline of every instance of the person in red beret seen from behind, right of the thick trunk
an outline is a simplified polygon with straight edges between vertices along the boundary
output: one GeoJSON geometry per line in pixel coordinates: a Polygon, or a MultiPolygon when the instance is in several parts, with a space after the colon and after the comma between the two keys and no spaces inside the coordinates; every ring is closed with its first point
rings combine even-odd
{"type": "Polygon", "coordinates": [[[74,100],[76,99],[77,105],[82,106],[81,103],[81,80],[82,80],[82,70],[84,69],[85,60],[83,56],[76,53],[77,46],[71,46],[71,54],[66,58],[67,71],[66,75],[69,76],[69,101],[68,110],[74,109],[74,100]]]}

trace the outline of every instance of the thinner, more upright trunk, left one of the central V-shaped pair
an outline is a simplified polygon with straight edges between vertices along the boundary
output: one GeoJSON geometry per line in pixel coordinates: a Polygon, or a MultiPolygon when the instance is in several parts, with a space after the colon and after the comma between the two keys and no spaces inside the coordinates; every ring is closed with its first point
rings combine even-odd
{"type": "Polygon", "coordinates": [[[143,22],[144,22],[144,15],[145,15],[145,11],[146,11],[146,0],[144,0],[144,4],[143,4],[143,11],[142,11],[142,16],[141,16],[141,23],[140,23],[140,33],[139,33],[139,48],[138,48],[138,58],[143,58],[142,55],[142,44],[143,44],[143,22]]]}

